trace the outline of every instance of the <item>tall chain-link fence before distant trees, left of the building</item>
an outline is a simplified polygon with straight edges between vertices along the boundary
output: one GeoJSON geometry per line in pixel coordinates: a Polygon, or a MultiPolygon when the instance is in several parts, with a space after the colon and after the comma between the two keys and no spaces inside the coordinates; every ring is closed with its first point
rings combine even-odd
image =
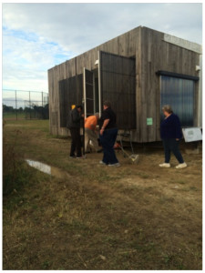
{"type": "Polygon", "coordinates": [[[2,90],[3,117],[11,119],[48,119],[48,93],[26,90],[2,90]]]}

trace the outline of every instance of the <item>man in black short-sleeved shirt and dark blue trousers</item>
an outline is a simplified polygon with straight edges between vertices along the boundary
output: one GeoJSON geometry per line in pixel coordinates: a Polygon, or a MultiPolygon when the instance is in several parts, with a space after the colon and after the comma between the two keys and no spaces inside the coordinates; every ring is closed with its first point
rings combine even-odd
{"type": "Polygon", "coordinates": [[[99,163],[108,165],[109,167],[120,167],[114,150],[114,145],[118,136],[116,114],[111,109],[111,104],[108,101],[104,102],[103,108],[102,116],[99,119],[99,139],[103,147],[104,156],[99,163]]]}

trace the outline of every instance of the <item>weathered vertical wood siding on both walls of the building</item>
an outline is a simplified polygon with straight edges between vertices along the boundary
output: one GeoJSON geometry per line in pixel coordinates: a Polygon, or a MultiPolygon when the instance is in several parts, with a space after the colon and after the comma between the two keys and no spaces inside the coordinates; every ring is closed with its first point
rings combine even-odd
{"type": "MultiPolygon", "coordinates": [[[[138,142],[159,141],[160,126],[160,86],[159,70],[198,76],[195,67],[200,65],[200,54],[172,45],[164,41],[164,34],[147,27],[137,27],[103,45],[77,56],[48,71],[50,116],[57,113],[57,120],[50,120],[50,132],[64,135],[65,128],[60,126],[59,81],[96,68],[97,51],[136,58],[136,131],[134,140],[138,142]],[[147,125],[147,118],[152,117],[153,125],[147,125]]],[[[195,84],[194,111],[197,111],[199,86],[195,84]]],[[[124,99],[124,97],[123,97],[124,99]]],[[[55,114],[56,115],[56,114],[55,114]]],[[[54,115],[53,115],[54,116],[54,115]]]]}

